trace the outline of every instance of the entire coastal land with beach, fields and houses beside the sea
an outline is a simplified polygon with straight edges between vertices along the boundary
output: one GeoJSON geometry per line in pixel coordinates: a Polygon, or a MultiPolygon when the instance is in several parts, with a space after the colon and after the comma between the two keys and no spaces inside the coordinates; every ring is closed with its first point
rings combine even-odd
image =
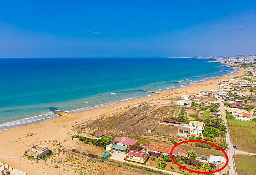
{"type": "Polygon", "coordinates": [[[254,174],[256,56],[194,58],[236,72],[0,131],[1,175],[254,174]]]}

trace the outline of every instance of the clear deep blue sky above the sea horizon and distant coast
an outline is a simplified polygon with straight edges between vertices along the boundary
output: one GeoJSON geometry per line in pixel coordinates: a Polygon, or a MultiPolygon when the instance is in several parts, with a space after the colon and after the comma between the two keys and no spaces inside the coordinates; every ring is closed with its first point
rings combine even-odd
{"type": "Polygon", "coordinates": [[[256,1],[1,1],[0,57],[256,54],[256,1]]]}

